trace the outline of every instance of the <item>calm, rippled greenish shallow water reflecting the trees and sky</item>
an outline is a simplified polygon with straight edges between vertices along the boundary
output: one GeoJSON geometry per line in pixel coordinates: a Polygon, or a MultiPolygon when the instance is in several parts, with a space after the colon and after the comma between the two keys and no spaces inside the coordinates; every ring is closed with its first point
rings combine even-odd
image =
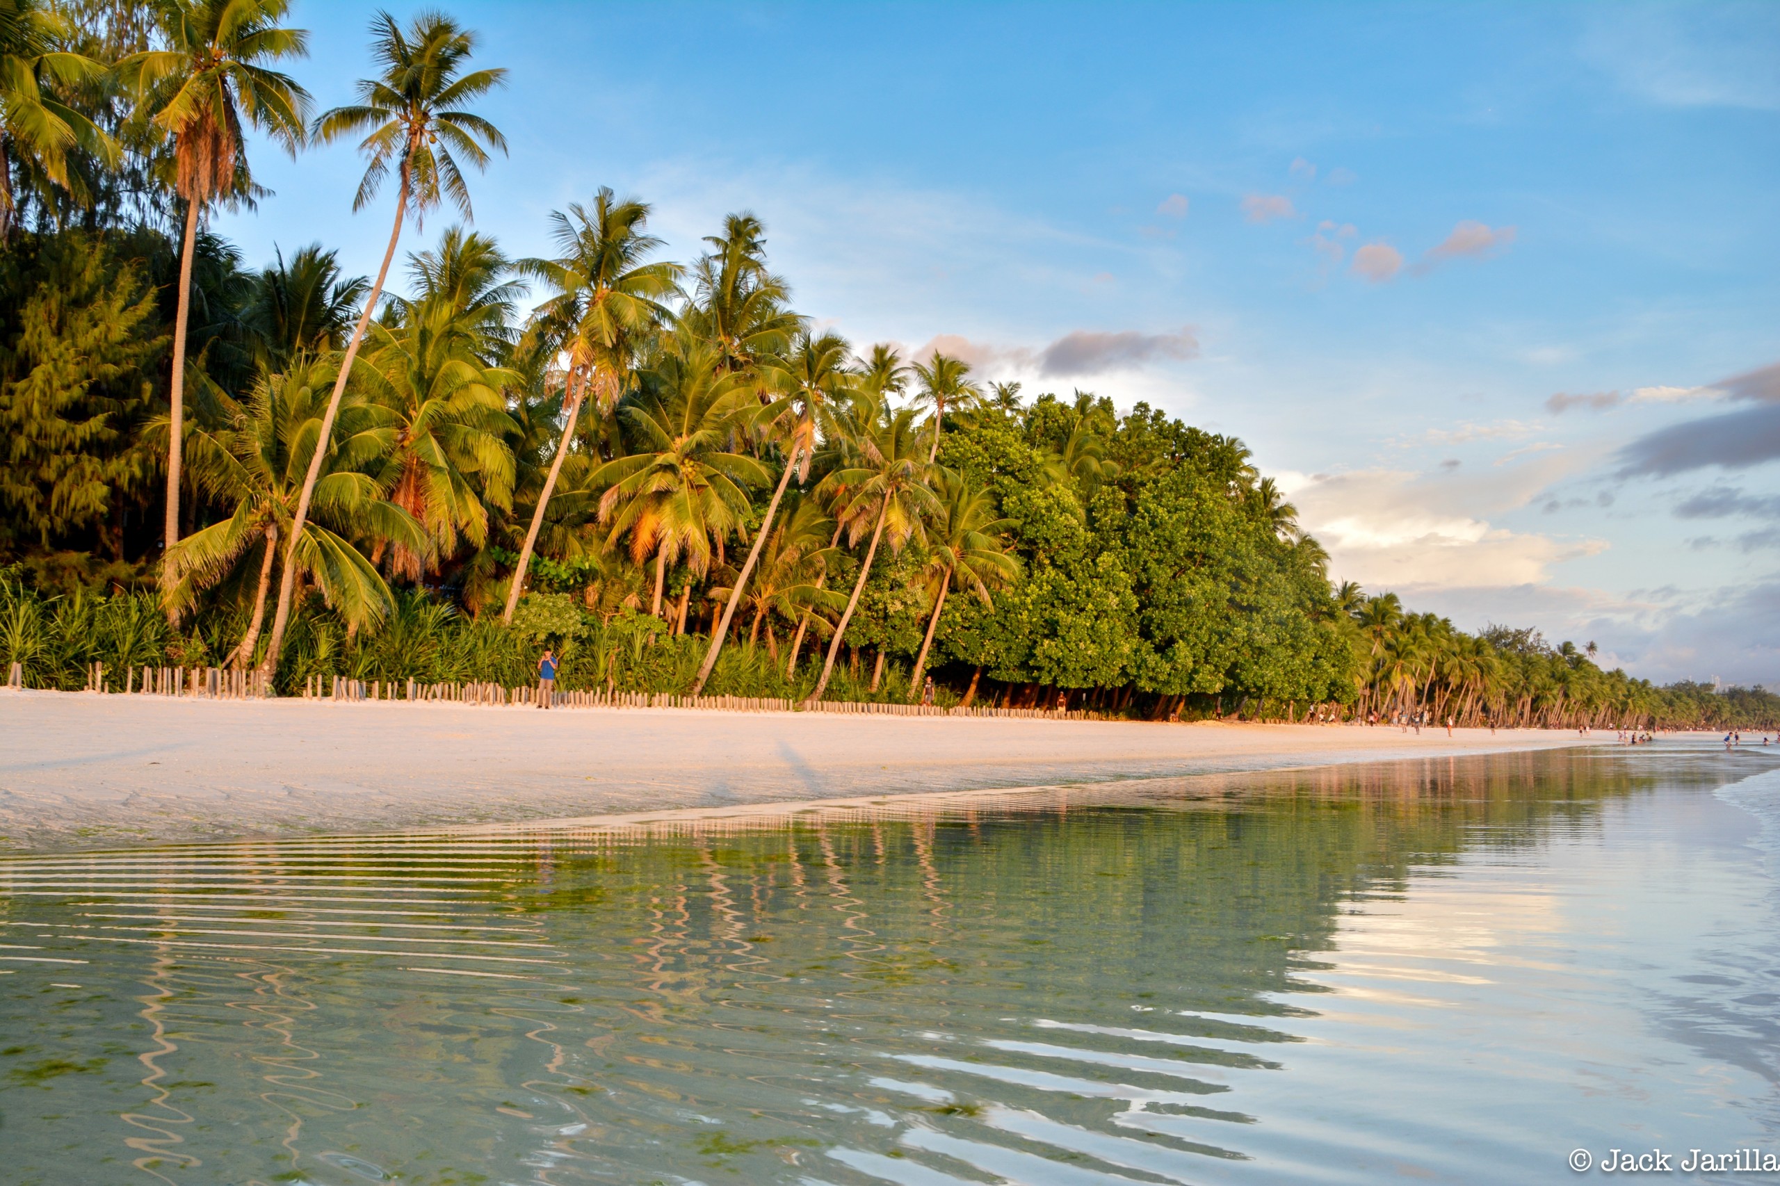
{"type": "Polygon", "coordinates": [[[5,858],[0,1181],[1538,1182],[1572,1149],[1780,1152],[1775,757],[5,858]]]}

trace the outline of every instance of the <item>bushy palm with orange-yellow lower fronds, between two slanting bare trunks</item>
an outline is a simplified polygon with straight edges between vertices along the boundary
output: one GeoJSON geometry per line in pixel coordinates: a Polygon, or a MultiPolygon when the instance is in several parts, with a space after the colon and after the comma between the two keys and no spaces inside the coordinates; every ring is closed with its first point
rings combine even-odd
{"type": "Polygon", "coordinates": [[[655,556],[650,613],[660,616],[668,565],[684,556],[703,575],[712,543],[746,522],[742,484],[765,484],[767,470],[724,449],[749,394],[737,376],[717,372],[717,351],[691,329],[682,326],[639,378],[643,390],[618,411],[641,449],[607,461],[589,481],[605,488],[607,547],[628,534],[634,563],[655,556]]]}

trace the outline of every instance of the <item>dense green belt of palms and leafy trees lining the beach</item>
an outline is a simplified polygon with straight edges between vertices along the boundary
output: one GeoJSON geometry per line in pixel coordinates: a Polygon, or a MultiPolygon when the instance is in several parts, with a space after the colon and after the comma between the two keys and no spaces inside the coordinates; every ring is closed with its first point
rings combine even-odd
{"type": "MultiPolygon", "coordinates": [[[[94,659],[518,682],[548,639],[570,686],[902,700],[933,675],[942,703],[1157,719],[1780,723],[1762,689],[1659,689],[1331,584],[1234,438],[817,331],[749,212],[685,265],[644,201],[598,191],[545,228],[554,258],[445,226],[390,292],[324,244],[253,271],[194,205],[255,198],[240,112],[301,146],[295,80],[258,43],[246,82],[198,78],[219,9],[196,0],[23,7],[0,652],[34,684],[94,659]],[[203,98],[183,123],[180,85],[203,98]]],[[[253,12],[287,68],[301,30],[253,12]]],[[[470,214],[459,164],[502,139],[465,105],[502,73],[440,14],[372,34],[381,73],[317,132],[368,135],[360,205],[399,180],[393,260],[417,210],[470,214]]]]}

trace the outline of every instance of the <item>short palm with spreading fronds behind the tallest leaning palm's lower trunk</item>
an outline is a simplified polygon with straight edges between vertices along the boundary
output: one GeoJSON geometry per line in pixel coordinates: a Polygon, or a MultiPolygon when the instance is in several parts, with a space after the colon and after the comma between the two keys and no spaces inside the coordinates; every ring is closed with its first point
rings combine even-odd
{"type": "MultiPolygon", "coordinates": [[[[224,408],[226,427],[192,433],[192,477],[210,499],[233,504],[235,511],[167,552],[164,598],[169,613],[178,616],[201,591],[258,552],[253,616],[230,666],[253,662],[278,541],[292,529],[308,452],[320,440],[317,413],[322,392],[333,383],[333,360],[299,360],[285,374],[262,372],[246,404],[212,392],[224,408]]],[[[315,508],[333,529],[306,524],[295,548],[299,568],[354,627],[383,618],[390,589],[351,536],[409,540],[415,545],[420,536],[420,525],[384,502],[376,483],[356,468],[383,451],[381,435],[367,413],[361,404],[347,408],[345,438],[331,451],[326,461],[329,472],[315,490],[315,508]]]]}

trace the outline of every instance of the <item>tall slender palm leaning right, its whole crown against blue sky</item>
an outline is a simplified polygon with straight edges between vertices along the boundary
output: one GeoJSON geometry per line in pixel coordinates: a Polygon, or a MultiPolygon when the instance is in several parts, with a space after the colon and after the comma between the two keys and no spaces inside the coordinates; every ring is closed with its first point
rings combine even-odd
{"type": "MultiPolygon", "coordinates": [[[[272,0],[256,0],[271,4],[272,0]]],[[[390,230],[390,246],[383,253],[383,265],[377,267],[377,280],[365,297],[365,312],[360,313],[352,337],[347,338],[345,360],[340,363],[340,378],[335,379],[333,397],[322,415],[322,442],[333,433],[335,417],[340,413],[340,397],[345,394],[347,379],[352,376],[352,361],[358,358],[365,328],[383,296],[383,281],[390,276],[390,260],[395,258],[395,244],[402,237],[402,223],[409,207],[418,224],[427,210],[443,199],[450,199],[459,212],[470,217],[470,191],[463,180],[456,151],[477,169],[488,167],[488,150],[507,150],[500,130],[481,116],[463,109],[498,85],[504,85],[507,71],[475,69],[461,73],[475,50],[475,36],[457,21],[440,12],[420,12],[404,32],[395,18],[379,12],[370,23],[372,55],[381,66],[376,78],[363,78],[358,84],[360,102],[351,107],[335,107],[315,121],[315,135],[331,142],[342,135],[365,132],[360,141],[370,162],[365,178],[352,198],[352,210],[363,210],[377,196],[383,180],[395,164],[399,189],[395,198],[395,226],[390,230]]],[[[317,451],[310,461],[310,474],[303,481],[303,493],[297,499],[295,524],[301,531],[310,513],[310,499],[315,495],[315,483],[320,479],[320,463],[326,451],[317,451]]],[[[292,540],[295,540],[292,536],[292,540]]],[[[278,654],[285,645],[285,627],[290,621],[290,591],[294,588],[294,570],[285,561],[285,573],[278,586],[278,614],[272,618],[272,641],[265,648],[267,671],[278,670],[278,654]]]]}

